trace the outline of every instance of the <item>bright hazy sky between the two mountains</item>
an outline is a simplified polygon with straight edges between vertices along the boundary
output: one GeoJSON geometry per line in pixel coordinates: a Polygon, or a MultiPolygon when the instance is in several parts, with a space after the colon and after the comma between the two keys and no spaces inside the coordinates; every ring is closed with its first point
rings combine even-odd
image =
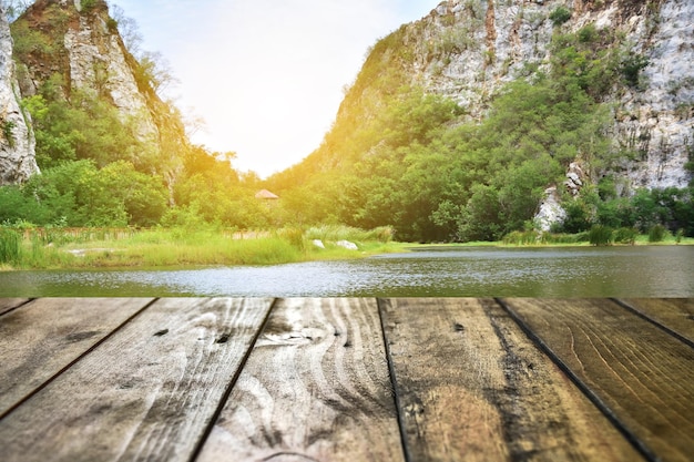
{"type": "Polygon", "coordinates": [[[262,177],[310,154],[330,129],[367,49],[440,0],[110,0],[141,48],[178,83],[169,94],[205,121],[193,141],[237,153],[262,177]]]}

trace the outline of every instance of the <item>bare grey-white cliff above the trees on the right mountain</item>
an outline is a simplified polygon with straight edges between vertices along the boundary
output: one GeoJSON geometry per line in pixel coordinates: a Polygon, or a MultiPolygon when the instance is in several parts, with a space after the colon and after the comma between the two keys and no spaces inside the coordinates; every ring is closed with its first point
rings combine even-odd
{"type": "Polygon", "coordinates": [[[641,71],[603,96],[613,107],[623,188],[684,187],[694,155],[694,2],[691,0],[449,0],[406,25],[411,81],[481,117],[507,82],[547,65],[552,35],[592,24],[641,71]],[[642,68],[642,69],[641,69],[642,68]]]}

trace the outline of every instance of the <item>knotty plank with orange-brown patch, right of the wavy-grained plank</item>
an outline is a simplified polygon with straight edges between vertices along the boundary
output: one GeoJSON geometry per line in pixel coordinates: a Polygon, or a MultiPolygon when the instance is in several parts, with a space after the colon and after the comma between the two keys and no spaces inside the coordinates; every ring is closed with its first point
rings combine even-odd
{"type": "Polygon", "coordinates": [[[410,460],[642,460],[493,300],[381,309],[410,460]]]}

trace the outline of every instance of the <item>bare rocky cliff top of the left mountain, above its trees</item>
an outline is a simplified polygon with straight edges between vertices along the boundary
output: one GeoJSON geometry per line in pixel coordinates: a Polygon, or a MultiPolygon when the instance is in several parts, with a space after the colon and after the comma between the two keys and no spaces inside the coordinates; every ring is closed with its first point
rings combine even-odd
{"type": "MultiPolygon", "coordinates": [[[[47,84],[69,103],[88,95],[118,110],[123,131],[140,142],[126,160],[170,183],[187,143],[181,117],[154,90],[151,68],[126,49],[104,0],[37,0],[13,24],[23,96],[45,94],[47,84]]],[[[55,93],[53,91],[53,93],[55,93]]]]}

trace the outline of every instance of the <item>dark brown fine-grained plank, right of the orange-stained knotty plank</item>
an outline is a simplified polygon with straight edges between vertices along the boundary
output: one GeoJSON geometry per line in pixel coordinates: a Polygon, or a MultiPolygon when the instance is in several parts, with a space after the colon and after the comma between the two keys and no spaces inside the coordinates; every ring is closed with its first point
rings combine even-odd
{"type": "Polygon", "coordinates": [[[506,301],[644,451],[694,454],[694,349],[611,300],[506,301]]]}

